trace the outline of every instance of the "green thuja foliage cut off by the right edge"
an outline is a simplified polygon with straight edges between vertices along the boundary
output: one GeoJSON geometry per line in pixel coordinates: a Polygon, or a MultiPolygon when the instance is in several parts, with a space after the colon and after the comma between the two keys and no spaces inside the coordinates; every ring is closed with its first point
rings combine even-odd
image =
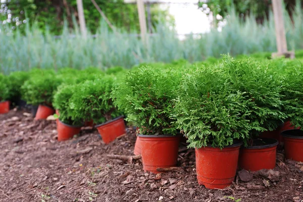
{"type": "Polygon", "coordinates": [[[295,127],[303,129],[303,67],[301,64],[290,66],[284,74],[283,111],[295,127]]]}

